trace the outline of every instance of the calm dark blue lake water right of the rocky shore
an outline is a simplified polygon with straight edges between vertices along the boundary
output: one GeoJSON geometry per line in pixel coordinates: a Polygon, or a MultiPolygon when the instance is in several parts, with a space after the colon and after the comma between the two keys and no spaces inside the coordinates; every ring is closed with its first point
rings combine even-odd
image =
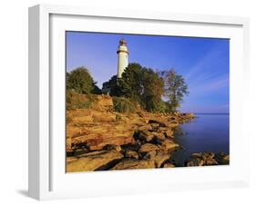
{"type": "Polygon", "coordinates": [[[196,114],[192,122],[179,125],[175,141],[183,147],[172,159],[183,166],[191,153],[212,151],[230,153],[230,115],[196,114]],[[180,133],[181,132],[181,133],[180,133]]]}

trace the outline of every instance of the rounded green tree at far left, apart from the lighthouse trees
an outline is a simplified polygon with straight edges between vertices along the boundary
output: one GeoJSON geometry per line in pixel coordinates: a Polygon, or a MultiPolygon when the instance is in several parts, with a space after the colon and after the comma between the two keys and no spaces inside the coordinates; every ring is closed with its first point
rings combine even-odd
{"type": "Polygon", "coordinates": [[[67,73],[67,90],[73,90],[77,93],[93,93],[97,91],[96,83],[85,67],[78,67],[70,73],[67,73]]]}

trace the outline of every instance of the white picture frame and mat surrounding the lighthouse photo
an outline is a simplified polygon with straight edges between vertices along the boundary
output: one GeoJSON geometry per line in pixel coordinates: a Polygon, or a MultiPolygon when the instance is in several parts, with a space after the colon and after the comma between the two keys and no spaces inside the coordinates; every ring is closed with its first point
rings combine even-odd
{"type": "Polygon", "coordinates": [[[37,200],[51,200],[150,191],[247,186],[249,161],[244,161],[240,155],[248,155],[250,136],[245,134],[241,123],[242,109],[246,105],[247,98],[246,93],[241,92],[243,93],[241,94],[240,91],[245,90],[248,82],[248,35],[249,20],[242,17],[145,13],[65,5],[30,7],[29,196],[37,200]],[[143,27],[142,25],[146,23],[148,27],[143,27]],[[65,164],[63,158],[65,153],[65,132],[63,132],[65,66],[63,63],[65,59],[61,59],[65,53],[63,32],[68,29],[84,30],[81,27],[82,24],[90,27],[87,31],[94,32],[134,34],[143,32],[143,34],[159,34],[160,32],[166,35],[230,37],[230,165],[179,168],[171,171],[158,169],[66,174],[63,171],[65,164]],[[122,27],[117,26],[118,24],[129,26],[122,27]],[[171,24],[174,29],[171,32],[169,29],[163,29],[163,24],[167,28],[171,24]],[[141,27],[144,30],[139,30],[141,27]],[[61,105],[57,107],[56,103],[61,105]],[[58,126],[62,127],[62,130],[56,128],[58,126]],[[79,186],[78,181],[83,181],[81,182],[83,184],[87,181],[87,186],[79,186]]]}

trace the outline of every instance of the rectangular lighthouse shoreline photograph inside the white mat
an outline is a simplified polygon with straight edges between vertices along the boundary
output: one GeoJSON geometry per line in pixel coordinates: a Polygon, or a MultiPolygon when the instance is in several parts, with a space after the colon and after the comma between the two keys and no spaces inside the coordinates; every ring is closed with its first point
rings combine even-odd
{"type": "Polygon", "coordinates": [[[65,44],[66,172],[230,165],[230,39],[66,31],[65,44]]]}

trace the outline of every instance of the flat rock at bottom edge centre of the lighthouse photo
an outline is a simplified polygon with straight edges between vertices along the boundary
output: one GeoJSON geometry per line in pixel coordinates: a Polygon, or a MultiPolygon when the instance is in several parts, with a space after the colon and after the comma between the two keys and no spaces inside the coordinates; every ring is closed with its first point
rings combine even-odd
{"type": "Polygon", "coordinates": [[[155,168],[154,161],[124,159],[116,164],[111,170],[134,170],[134,169],[151,169],[155,168]]]}

